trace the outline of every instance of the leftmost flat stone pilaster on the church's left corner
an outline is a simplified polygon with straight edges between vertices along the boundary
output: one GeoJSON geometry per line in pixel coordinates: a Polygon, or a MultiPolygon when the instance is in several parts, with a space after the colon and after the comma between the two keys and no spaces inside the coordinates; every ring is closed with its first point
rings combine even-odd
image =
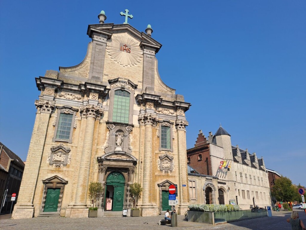
{"type": "Polygon", "coordinates": [[[44,151],[50,114],[54,101],[35,100],[37,109],[34,128],[30,141],[27,163],[24,167],[23,180],[19,190],[18,202],[14,206],[12,218],[32,218],[34,215],[34,192],[44,151]]]}

